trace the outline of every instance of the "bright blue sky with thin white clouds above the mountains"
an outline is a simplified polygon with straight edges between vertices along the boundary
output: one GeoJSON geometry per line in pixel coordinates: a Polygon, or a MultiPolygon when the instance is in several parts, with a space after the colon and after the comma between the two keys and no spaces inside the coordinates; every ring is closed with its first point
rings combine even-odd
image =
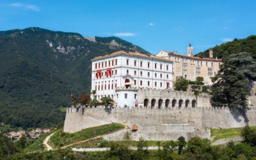
{"type": "Polygon", "coordinates": [[[186,54],[256,35],[256,1],[0,1],[1,31],[31,26],[186,54]]]}

